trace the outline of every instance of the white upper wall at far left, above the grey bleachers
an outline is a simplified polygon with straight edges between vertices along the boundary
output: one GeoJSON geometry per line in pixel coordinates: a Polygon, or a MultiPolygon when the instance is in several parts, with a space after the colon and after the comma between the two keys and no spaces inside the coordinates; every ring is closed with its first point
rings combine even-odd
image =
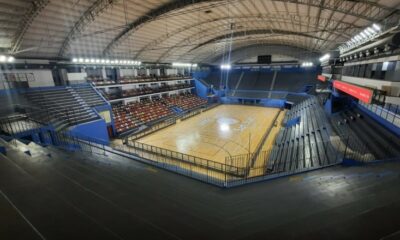
{"type": "MultiPolygon", "coordinates": [[[[0,71],[0,74],[8,74],[8,73],[22,73],[22,74],[33,74],[33,81],[29,81],[28,85],[29,87],[53,87],[55,86],[54,84],[54,79],[53,75],[51,73],[51,70],[43,69],[43,70],[4,70],[0,71]]],[[[0,79],[3,79],[1,77],[0,79]]],[[[3,82],[0,84],[0,88],[3,88],[3,82]]]]}

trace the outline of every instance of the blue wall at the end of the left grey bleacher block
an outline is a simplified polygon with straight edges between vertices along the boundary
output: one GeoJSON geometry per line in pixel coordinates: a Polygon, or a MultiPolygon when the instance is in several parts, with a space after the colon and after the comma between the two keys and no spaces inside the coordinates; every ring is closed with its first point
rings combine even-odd
{"type": "Polygon", "coordinates": [[[70,128],[69,132],[72,136],[81,139],[88,139],[105,145],[110,143],[107,133],[107,125],[103,119],[76,125],[70,128]]]}

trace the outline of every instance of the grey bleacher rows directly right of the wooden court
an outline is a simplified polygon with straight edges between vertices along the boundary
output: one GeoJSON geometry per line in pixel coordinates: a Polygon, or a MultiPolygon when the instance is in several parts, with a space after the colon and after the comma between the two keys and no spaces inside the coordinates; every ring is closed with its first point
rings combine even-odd
{"type": "Polygon", "coordinates": [[[299,118],[294,125],[278,133],[269,157],[268,171],[286,172],[335,164],[336,154],[330,142],[331,129],[315,97],[295,105],[283,124],[299,118]]]}

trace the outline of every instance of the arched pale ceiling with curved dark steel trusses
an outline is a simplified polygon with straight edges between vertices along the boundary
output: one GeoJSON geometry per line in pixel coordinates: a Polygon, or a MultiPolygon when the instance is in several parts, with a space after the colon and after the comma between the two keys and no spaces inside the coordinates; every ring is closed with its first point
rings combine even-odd
{"type": "Polygon", "coordinates": [[[273,46],[301,59],[372,23],[398,24],[399,7],[400,0],[0,0],[0,52],[211,63],[273,46]]]}

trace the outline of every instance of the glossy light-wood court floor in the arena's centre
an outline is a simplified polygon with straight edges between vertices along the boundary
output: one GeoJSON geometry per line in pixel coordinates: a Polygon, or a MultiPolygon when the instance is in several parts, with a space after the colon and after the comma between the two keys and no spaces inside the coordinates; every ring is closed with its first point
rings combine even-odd
{"type": "Polygon", "coordinates": [[[138,142],[225,163],[225,157],[253,152],[273,124],[277,108],[220,105],[138,142]]]}

